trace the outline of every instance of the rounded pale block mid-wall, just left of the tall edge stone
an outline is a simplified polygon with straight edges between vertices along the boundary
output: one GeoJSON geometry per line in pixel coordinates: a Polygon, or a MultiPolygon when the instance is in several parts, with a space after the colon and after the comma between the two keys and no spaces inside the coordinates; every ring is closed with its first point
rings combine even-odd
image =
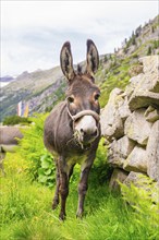
{"type": "Polygon", "coordinates": [[[134,111],[125,121],[124,133],[140,145],[146,145],[150,134],[151,123],[146,121],[145,109],[134,111]]]}

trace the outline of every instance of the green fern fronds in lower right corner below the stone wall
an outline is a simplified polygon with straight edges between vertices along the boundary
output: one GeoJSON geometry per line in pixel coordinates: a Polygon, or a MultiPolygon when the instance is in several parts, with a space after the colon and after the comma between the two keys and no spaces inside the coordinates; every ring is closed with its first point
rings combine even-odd
{"type": "Polygon", "coordinates": [[[121,184],[123,199],[135,209],[135,225],[145,229],[147,239],[159,239],[159,190],[148,177],[140,177],[137,184],[121,184]]]}

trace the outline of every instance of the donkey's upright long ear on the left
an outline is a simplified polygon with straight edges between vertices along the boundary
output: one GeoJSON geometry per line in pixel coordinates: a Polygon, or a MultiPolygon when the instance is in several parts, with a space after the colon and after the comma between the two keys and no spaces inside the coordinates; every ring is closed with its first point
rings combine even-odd
{"type": "Polygon", "coordinates": [[[61,69],[62,69],[63,74],[66,76],[69,81],[72,81],[75,73],[73,69],[71,45],[69,41],[66,41],[61,49],[60,62],[61,62],[61,69]]]}

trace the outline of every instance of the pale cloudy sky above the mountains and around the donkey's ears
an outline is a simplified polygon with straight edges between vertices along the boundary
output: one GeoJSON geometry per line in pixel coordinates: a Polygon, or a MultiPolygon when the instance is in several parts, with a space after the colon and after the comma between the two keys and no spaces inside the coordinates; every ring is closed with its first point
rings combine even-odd
{"type": "Polygon", "coordinates": [[[132,31],[157,14],[157,0],[1,0],[1,76],[59,65],[66,40],[74,63],[85,60],[88,38],[99,55],[113,52],[132,31]]]}

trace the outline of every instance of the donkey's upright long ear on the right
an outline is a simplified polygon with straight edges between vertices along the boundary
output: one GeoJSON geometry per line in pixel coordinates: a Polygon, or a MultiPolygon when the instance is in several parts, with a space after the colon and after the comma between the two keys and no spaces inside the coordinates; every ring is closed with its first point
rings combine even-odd
{"type": "Polygon", "coordinates": [[[86,72],[94,76],[99,65],[99,55],[93,40],[87,40],[87,67],[86,72]]]}

